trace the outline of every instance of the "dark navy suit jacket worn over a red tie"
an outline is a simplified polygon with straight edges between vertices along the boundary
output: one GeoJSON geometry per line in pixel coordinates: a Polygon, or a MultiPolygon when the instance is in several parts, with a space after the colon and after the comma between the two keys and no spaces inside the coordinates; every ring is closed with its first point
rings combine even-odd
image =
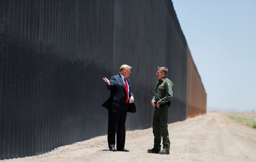
{"type": "MultiPolygon", "coordinates": [[[[131,85],[130,79],[126,78],[126,80],[129,85],[129,99],[130,99],[130,97],[133,96],[132,85],[131,85]]],[[[105,103],[103,103],[102,105],[103,107],[106,107],[109,111],[112,111],[112,112],[123,112],[127,110],[128,112],[135,113],[136,107],[134,103],[129,104],[129,101],[128,103],[125,103],[127,95],[125,91],[124,81],[120,76],[120,74],[111,77],[110,85],[107,84],[107,88],[108,90],[111,91],[110,97],[105,103]]]]}

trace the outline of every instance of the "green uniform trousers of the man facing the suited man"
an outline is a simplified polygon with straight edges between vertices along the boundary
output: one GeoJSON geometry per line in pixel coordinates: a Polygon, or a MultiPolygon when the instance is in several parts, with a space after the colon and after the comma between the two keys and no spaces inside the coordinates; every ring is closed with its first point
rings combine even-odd
{"type": "Polygon", "coordinates": [[[156,108],[153,116],[154,148],[161,150],[161,139],[163,137],[163,149],[167,152],[170,151],[170,139],[167,128],[169,109],[169,107],[156,108]]]}

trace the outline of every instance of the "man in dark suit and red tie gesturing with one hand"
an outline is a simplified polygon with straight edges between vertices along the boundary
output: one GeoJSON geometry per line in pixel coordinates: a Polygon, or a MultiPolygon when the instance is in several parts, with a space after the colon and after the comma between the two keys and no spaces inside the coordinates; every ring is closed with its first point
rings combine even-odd
{"type": "MultiPolygon", "coordinates": [[[[131,74],[131,66],[122,65],[119,75],[111,77],[110,81],[105,77],[110,90],[110,97],[102,105],[108,109],[108,147],[110,151],[125,151],[125,121],[129,103],[133,104],[132,86],[127,77],[131,74]],[[116,143],[116,149],[115,149],[116,143]]],[[[134,106],[135,107],[135,106],[134,106]]]]}

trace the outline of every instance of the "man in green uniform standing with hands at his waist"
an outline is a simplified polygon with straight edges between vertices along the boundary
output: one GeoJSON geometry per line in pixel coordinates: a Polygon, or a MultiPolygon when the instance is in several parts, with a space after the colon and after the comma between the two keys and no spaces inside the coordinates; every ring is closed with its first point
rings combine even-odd
{"type": "Polygon", "coordinates": [[[168,133],[169,107],[172,99],[172,82],[166,77],[168,69],[158,67],[156,76],[159,79],[156,90],[151,100],[151,105],[155,108],[153,117],[154,148],[148,153],[170,154],[170,139],[168,133]],[[161,150],[161,138],[163,137],[163,150],[161,150]]]}

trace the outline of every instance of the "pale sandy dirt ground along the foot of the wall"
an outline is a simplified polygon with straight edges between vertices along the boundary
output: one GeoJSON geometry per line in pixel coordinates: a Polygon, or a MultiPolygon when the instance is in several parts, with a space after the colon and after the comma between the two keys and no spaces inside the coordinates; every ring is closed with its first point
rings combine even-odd
{"type": "Polygon", "coordinates": [[[207,112],[171,123],[170,155],[147,153],[154,140],[149,128],[126,132],[125,148],[130,152],[108,151],[107,136],[99,136],[43,155],[4,161],[256,161],[256,129],[228,118],[228,114],[256,115],[207,112]]]}

